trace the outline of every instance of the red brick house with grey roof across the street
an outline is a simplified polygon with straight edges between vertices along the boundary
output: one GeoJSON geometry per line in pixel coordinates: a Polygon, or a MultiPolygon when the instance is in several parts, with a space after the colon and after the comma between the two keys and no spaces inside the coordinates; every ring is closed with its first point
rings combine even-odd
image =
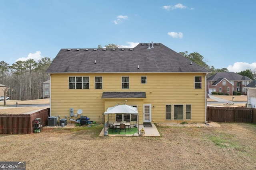
{"type": "Polygon", "coordinates": [[[246,94],[245,86],[252,79],[235,72],[217,72],[206,80],[207,93],[221,92],[233,95],[234,91],[246,94]]]}

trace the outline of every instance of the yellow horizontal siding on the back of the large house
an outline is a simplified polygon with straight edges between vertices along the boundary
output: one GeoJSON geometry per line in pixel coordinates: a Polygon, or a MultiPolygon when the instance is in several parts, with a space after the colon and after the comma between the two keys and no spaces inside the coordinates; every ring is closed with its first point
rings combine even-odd
{"type": "Polygon", "coordinates": [[[143,104],[151,104],[152,123],[204,122],[205,90],[203,73],[51,74],[51,115],[60,115],[60,118],[67,115],[68,118],[70,108],[74,108],[74,114],[83,109],[82,115],[102,122],[102,113],[108,107],[124,102],[138,106],[140,124],[143,122],[143,104]],[[69,89],[69,76],[89,76],[90,89],[69,89]],[[102,89],[95,89],[95,76],[102,76],[102,89]],[[122,89],[122,76],[129,76],[129,89],[122,89]],[[147,84],[141,84],[141,76],[147,77],[147,84]],[[194,76],[202,76],[202,89],[194,89],[194,76]],[[102,99],[103,92],[146,92],[146,98],[102,99]],[[166,120],[166,104],[172,105],[172,120],[166,120]],[[173,120],[174,104],[184,105],[183,120],[173,120]],[[191,120],[185,120],[185,104],[191,104],[191,120]]]}

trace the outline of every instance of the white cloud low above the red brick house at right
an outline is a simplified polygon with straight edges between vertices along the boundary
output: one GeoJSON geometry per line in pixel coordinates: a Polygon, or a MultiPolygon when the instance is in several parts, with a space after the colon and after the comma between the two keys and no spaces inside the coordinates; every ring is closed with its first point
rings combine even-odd
{"type": "Polygon", "coordinates": [[[256,63],[243,63],[243,62],[236,62],[233,65],[229,65],[228,71],[230,72],[240,72],[244,70],[254,70],[256,68],[256,63]]]}

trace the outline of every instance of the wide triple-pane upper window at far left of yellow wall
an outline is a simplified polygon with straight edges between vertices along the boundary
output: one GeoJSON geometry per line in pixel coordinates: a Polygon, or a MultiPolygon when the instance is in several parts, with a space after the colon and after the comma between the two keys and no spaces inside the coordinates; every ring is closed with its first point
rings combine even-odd
{"type": "Polygon", "coordinates": [[[69,89],[89,89],[89,77],[69,77],[69,89]]]}

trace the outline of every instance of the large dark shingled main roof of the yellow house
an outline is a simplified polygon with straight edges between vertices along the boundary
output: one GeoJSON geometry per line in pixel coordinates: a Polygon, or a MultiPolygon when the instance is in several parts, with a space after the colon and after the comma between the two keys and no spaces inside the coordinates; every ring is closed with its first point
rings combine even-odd
{"type": "Polygon", "coordinates": [[[95,72],[210,71],[161,43],[154,43],[151,49],[147,43],[140,43],[133,49],[61,49],[46,70],[46,73],[95,72]]]}

